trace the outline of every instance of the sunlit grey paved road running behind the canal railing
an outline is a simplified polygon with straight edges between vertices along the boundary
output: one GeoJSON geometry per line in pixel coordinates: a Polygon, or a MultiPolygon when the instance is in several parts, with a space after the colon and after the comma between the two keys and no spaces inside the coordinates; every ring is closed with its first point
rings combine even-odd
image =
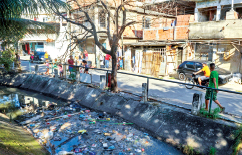
{"type": "MultiPolygon", "coordinates": [[[[22,68],[29,69],[28,62],[22,61],[22,68]]],[[[40,71],[45,71],[45,66],[40,65],[40,71]]],[[[32,71],[34,70],[34,64],[31,65],[32,71]]],[[[99,82],[99,75],[105,74],[102,71],[89,71],[93,74],[93,82],[99,82]]],[[[141,94],[141,85],[146,83],[145,78],[118,74],[118,86],[121,90],[141,94]]],[[[205,90],[200,88],[193,88],[192,90],[186,89],[184,85],[168,83],[163,81],[150,80],[149,95],[161,101],[176,104],[186,108],[191,108],[192,96],[196,92],[202,92],[205,95],[205,90]]],[[[242,86],[238,84],[226,84],[220,86],[221,89],[242,91],[242,86]]],[[[242,96],[237,94],[229,94],[226,92],[218,93],[218,100],[223,106],[225,111],[242,116],[242,96]]],[[[213,108],[216,108],[216,104],[213,103],[213,108]]]]}

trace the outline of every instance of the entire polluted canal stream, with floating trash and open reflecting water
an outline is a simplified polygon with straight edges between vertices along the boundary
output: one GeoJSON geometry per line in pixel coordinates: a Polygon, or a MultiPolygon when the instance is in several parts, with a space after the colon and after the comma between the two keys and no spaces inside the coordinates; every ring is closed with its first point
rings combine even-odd
{"type": "Polygon", "coordinates": [[[39,93],[0,86],[0,110],[52,155],[181,155],[131,122],[39,93]]]}

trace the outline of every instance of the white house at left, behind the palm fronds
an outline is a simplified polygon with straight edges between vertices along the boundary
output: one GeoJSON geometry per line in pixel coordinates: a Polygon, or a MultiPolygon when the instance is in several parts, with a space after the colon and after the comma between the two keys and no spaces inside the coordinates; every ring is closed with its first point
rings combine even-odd
{"type": "MultiPolygon", "coordinates": [[[[66,13],[64,13],[66,16],[66,13]]],[[[68,49],[67,22],[59,16],[45,14],[41,12],[38,16],[28,17],[22,15],[25,19],[38,22],[44,22],[52,25],[55,31],[46,32],[43,29],[36,29],[29,26],[29,30],[33,33],[26,34],[19,41],[19,50],[22,54],[30,54],[31,52],[47,51],[51,59],[62,56],[68,49]],[[36,33],[35,33],[36,32],[36,33]]]]}

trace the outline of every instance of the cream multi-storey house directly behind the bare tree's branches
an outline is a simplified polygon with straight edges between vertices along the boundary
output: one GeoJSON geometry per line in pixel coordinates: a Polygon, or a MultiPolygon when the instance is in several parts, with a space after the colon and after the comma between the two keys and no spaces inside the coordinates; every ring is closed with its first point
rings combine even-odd
{"type": "MultiPolygon", "coordinates": [[[[78,9],[80,6],[89,6],[94,1],[88,1],[85,0],[78,0],[77,3],[72,5],[73,11],[71,12],[72,19],[76,19],[76,21],[83,23],[88,28],[91,28],[91,25],[89,22],[85,21],[84,15],[82,12],[79,12],[78,9]],[[79,5],[79,6],[78,6],[79,5]],[[76,11],[75,11],[76,10],[76,11]]],[[[96,1],[95,1],[96,2],[96,1]]],[[[112,0],[106,1],[107,5],[110,7],[111,12],[114,13],[115,11],[115,4],[112,0]]],[[[118,2],[117,2],[118,3],[118,2]]],[[[142,6],[142,2],[134,2],[131,6],[128,7],[127,12],[127,20],[129,21],[138,21],[137,24],[131,25],[129,27],[126,27],[122,39],[119,41],[118,45],[118,57],[124,57],[125,53],[125,47],[123,46],[126,43],[136,43],[139,40],[143,38],[143,30],[142,30],[142,24],[139,23],[139,21],[143,20],[143,17],[145,14],[144,10],[142,10],[140,7],[142,6]]],[[[117,4],[118,5],[118,4],[117,4]]],[[[88,11],[89,15],[92,16],[92,21],[94,22],[96,26],[97,31],[106,31],[107,30],[107,14],[103,10],[103,6],[98,3],[97,5],[93,6],[92,9],[88,11]]],[[[111,23],[110,25],[110,31],[111,33],[114,31],[114,24],[111,23]]],[[[83,35],[80,35],[85,32],[85,30],[75,24],[71,24],[71,32],[73,35],[76,36],[76,41],[78,43],[78,47],[76,47],[76,50],[79,50],[80,52],[83,52],[84,50],[88,51],[88,59],[92,61],[92,65],[100,67],[104,65],[104,57],[105,53],[103,53],[94,43],[94,37],[88,37],[86,40],[83,39],[83,35]]],[[[101,42],[104,47],[107,49],[110,49],[109,46],[109,40],[105,33],[99,33],[98,34],[99,42],[101,42]]],[[[129,58],[130,59],[130,58],[129,58]]]]}

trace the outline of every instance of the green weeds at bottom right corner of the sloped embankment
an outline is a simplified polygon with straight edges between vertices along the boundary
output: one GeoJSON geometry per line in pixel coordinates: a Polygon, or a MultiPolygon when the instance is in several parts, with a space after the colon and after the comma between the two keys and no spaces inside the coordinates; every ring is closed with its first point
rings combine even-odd
{"type": "Polygon", "coordinates": [[[233,155],[238,154],[239,150],[242,148],[242,125],[234,132],[234,145],[233,145],[233,155]]]}

